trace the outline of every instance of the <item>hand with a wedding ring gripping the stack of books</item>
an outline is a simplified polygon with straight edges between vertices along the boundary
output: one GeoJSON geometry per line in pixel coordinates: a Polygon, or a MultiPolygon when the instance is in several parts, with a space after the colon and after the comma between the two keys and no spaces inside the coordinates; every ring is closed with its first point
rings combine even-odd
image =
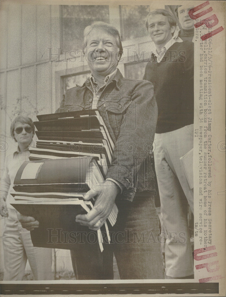
{"type": "Polygon", "coordinates": [[[88,214],[79,214],[76,216],[76,222],[88,226],[92,230],[98,230],[108,218],[118,192],[119,189],[116,184],[109,180],[89,190],[84,196],[84,199],[90,200],[98,195],[97,200],[88,214]]]}

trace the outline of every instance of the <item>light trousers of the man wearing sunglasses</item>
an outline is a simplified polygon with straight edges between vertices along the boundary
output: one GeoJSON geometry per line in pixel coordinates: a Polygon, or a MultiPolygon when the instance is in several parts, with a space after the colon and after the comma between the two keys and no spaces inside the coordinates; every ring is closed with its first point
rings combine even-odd
{"type": "Polygon", "coordinates": [[[8,208],[3,233],[4,281],[22,280],[27,260],[34,280],[52,280],[52,249],[34,247],[30,231],[22,228],[16,211],[8,208]]]}

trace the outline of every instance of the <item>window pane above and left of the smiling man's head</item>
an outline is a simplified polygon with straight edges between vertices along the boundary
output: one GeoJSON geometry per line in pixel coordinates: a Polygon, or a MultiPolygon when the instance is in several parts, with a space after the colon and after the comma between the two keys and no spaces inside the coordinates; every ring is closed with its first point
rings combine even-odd
{"type": "Polygon", "coordinates": [[[62,51],[82,50],[83,31],[94,21],[109,23],[108,5],[60,5],[62,51]]]}

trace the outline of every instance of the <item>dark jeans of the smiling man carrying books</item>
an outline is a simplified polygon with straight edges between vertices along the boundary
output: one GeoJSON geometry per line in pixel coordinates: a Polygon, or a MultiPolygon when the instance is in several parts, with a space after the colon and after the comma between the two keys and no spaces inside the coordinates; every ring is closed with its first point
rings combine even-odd
{"type": "Polygon", "coordinates": [[[102,227],[103,252],[96,233],[88,228],[83,230],[83,242],[71,250],[76,279],[113,279],[113,253],[121,279],[163,279],[154,197],[135,195],[133,202],[117,200],[116,204],[119,212],[114,227],[109,226],[110,244],[102,227]]]}

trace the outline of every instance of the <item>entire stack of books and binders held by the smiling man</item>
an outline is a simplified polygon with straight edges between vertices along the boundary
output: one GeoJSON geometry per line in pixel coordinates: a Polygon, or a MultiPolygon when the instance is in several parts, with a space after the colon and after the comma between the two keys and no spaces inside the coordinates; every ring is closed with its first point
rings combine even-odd
{"type": "MultiPolygon", "coordinates": [[[[93,207],[95,199],[83,198],[89,189],[105,181],[114,142],[97,110],[37,118],[39,121],[34,124],[38,141],[36,147],[29,149],[30,161],[24,162],[17,172],[12,205],[21,214],[39,221],[39,228],[31,231],[34,246],[72,249],[73,243],[62,242],[59,236],[81,230],[75,217],[93,207]]],[[[114,205],[108,217],[112,226],[117,213],[114,205]]],[[[105,229],[110,242],[106,221],[105,229]]],[[[100,229],[97,234],[103,250],[100,229]]]]}

